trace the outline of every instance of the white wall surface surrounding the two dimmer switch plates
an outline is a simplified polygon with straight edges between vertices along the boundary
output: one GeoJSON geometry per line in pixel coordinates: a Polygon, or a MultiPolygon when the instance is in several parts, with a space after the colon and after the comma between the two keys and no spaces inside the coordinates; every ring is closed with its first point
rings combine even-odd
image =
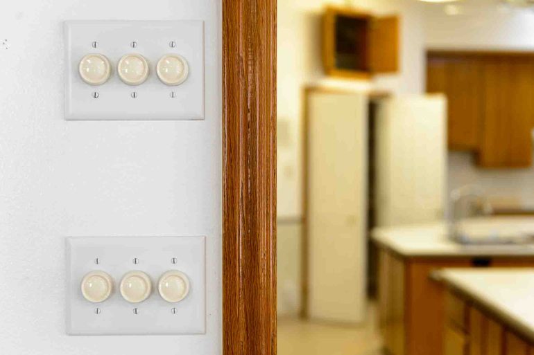
{"type": "Polygon", "coordinates": [[[8,1],[0,37],[0,353],[221,354],[220,1],[8,1]],[[63,120],[66,19],[205,20],[206,119],[63,120]],[[205,336],[65,334],[64,237],[107,235],[207,235],[205,336]]]}

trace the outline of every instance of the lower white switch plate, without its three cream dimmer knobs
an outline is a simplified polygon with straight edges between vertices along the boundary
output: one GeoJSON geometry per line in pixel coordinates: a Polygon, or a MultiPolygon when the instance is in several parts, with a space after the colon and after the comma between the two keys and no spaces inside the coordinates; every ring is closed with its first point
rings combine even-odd
{"type": "Polygon", "coordinates": [[[205,237],[69,237],[67,271],[67,334],[205,334],[205,237]],[[114,280],[112,295],[100,303],[85,300],[81,291],[83,276],[95,270],[114,280]],[[123,275],[134,270],[153,282],[153,293],[137,304],[119,292],[123,275]],[[157,280],[169,270],[189,277],[189,294],[178,303],[166,302],[157,292],[157,280]]]}

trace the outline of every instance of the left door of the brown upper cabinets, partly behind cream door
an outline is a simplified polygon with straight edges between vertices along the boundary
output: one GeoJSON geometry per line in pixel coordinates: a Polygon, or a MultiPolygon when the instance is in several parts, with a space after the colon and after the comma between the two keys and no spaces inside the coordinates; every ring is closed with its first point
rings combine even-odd
{"type": "Polygon", "coordinates": [[[427,63],[427,92],[447,95],[447,131],[451,150],[479,148],[481,66],[472,57],[434,57],[427,63]]]}

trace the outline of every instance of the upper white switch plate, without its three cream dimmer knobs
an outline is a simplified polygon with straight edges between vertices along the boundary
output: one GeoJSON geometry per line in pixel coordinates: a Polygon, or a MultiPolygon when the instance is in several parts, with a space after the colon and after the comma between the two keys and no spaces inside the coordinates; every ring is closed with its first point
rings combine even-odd
{"type": "Polygon", "coordinates": [[[203,21],[66,21],[64,41],[67,120],[204,118],[203,21]],[[136,42],[135,48],[132,42],[136,42]],[[92,86],[80,78],[78,64],[89,53],[110,60],[112,74],[105,84],[92,86]],[[117,63],[128,53],[139,53],[148,60],[150,75],[141,85],[127,85],[117,75],[117,63]],[[155,71],[160,57],[169,53],[182,55],[189,64],[189,77],[175,87],[160,82],[155,71]],[[98,98],[93,97],[94,92],[98,98]],[[136,98],[132,98],[133,92],[136,98]]]}

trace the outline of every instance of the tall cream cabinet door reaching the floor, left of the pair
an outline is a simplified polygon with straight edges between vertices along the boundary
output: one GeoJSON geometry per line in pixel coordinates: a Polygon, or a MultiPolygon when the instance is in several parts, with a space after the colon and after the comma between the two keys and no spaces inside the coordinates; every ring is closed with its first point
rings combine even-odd
{"type": "Polygon", "coordinates": [[[306,92],[304,293],[316,320],[365,320],[368,94],[306,92]]]}

